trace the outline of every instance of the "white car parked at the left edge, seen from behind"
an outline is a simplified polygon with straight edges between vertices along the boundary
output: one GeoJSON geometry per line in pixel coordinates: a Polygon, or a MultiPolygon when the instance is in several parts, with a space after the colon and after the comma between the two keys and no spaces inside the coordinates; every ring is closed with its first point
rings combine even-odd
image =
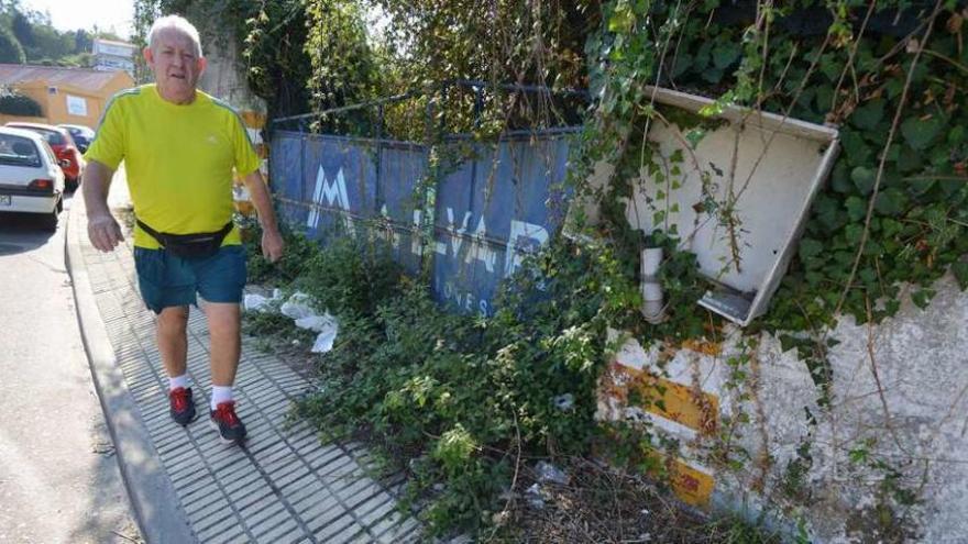
{"type": "Polygon", "coordinates": [[[38,213],[53,231],[63,209],[64,171],[44,136],[0,126],[0,213],[38,213]]]}

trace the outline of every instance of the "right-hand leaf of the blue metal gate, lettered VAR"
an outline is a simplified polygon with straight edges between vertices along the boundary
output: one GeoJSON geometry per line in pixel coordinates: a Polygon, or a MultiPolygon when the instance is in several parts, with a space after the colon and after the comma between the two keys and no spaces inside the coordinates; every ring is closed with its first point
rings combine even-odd
{"type": "MultiPolygon", "coordinates": [[[[437,188],[433,293],[449,308],[490,315],[499,281],[563,220],[566,134],[521,135],[472,156],[437,188]]],[[[457,145],[457,144],[455,144],[457,145]]]]}

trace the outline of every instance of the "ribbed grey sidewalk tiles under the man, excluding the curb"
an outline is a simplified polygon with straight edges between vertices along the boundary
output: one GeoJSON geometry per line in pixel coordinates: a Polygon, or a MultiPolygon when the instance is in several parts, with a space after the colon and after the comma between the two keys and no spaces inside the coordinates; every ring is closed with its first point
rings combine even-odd
{"type": "Polygon", "coordinates": [[[290,401],[311,385],[275,356],[258,353],[252,338],[243,340],[235,381],[250,440],[245,448],[219,442],[207,421],[207,325],[195,308],[188,322],[188,371],[199,418],[185,429],[172,422],[154,315],[139,297],[130,248],[101,254],[85,240],[81,251],[128,390],[198,542],[420,540],[418,523],[395,508],[399,479],[374,480],[361,445],[321,445],[306,422],[287,421],[290,401]]]}

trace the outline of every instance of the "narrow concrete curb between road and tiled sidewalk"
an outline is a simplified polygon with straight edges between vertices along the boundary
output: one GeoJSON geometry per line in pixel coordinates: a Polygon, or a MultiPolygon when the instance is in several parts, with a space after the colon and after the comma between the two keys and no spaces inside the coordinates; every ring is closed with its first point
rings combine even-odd
{"type": "MultiPolygon", "coordinates": [[[[65,233],[65,262],[74,289],[77,321],[90,363],[91,376],[101,410],[114,442],[121,479],[134,510],[142,537],[154,543],[198,542],[178,496],[161,464],[138,404],[117,365],[105,322],[95,301],[94,289],[81,252],[85,214],[84,198],[75,195],[65,233]]],[[[123,248],[120,251],[124,251],[123,248]]]]}

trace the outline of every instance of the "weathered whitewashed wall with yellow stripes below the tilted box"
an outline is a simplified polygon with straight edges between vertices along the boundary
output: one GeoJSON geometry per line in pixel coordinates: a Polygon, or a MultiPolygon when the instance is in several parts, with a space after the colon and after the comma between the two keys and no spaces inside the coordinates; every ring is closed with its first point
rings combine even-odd
{"type": "Polygon", "coordinates": [[[650,421],[679,438],[682,464],[712,480],[700,496],[683,486],[690,478],[675,480],[696,504],[765,512],[788,530],[802,522],[814,542],[968,542],[968,293],[950,277],[935,288],[926,310],[905,297],[880,325],[840,320],[826,406],[795,351],[734,327],[689,346],[628,338],[615,367],[680,385],[664,393],[680,403],[629,406],[614,395],[629,381],[612,373],[600,417],[650,421]]]}

